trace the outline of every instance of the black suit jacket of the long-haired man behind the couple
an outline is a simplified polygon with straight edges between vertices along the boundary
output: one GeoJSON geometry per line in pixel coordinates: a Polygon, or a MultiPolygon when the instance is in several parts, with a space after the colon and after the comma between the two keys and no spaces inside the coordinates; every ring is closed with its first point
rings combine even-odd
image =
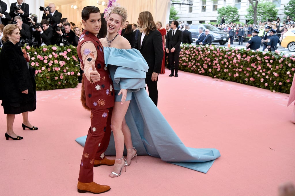
{"type": "Polygon", "coordinates": [[[164,56],[163,52],[163,40],[160,31],[150,31],[149,35],[145,35],[140,47],[142,33],[138,34],[135,41],[134,48],[139,50],[142,56],[148,63],[147,75],[152,75],[153,72],[160,73],[162,68],[162,60],[164,56]]]}

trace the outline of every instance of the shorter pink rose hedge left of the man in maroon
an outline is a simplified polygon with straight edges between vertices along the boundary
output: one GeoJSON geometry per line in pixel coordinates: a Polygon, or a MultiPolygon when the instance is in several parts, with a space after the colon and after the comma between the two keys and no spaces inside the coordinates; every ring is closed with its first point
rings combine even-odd
{"type": "Polygon", "coordinates": [[[36,69],[37,90],[75,88],[80,75],[78,54],[74,46],[26,47],[29,64],[36,69]]]}

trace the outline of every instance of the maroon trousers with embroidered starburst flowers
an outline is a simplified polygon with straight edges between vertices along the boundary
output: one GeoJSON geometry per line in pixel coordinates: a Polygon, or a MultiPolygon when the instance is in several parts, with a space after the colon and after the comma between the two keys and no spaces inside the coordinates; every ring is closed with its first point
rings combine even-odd
{"type": "Polygon", "coordinates": [[[111,136],[112,108],[91,109],[91,127],[88,130],[82,160],[79,182],[93,182],[94,160],[104,158],[111,136]]]}

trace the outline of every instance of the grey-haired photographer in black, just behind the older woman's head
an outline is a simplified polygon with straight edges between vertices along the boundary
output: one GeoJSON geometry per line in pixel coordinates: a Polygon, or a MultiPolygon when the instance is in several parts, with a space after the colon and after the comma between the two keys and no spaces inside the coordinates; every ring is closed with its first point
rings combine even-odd
{"type": "Polygon", "coordinates": [[[25,24],[22,22],[22,17],[20,16],[15,16],[14,17],[14,22],[17,27],[19,28],[20,35],[21,35],[21,40],[19,41],[20,44],[29,44],[30,46],[32,45],[32,32],[31,28],[28,24],[25,24]]]}

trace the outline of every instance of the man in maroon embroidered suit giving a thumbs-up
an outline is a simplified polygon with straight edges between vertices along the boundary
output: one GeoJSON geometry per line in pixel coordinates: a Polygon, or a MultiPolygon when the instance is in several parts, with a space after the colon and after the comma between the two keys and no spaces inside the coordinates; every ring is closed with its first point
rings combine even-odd
{"type": "Polygon", "coordinates": [[[113,82],[104,64],[104,52],[97,34],[101,27],[101,14],[97,7],[82,10],[85,27],[77,46],[81,69],[84,70],[86,105],[91,108],[91,127],[88,130],[78,181],[78,192],[102,193],[111,188],[93,181],[93,167],[114,165],[114,160],[104,157],[111,135],[113,82]]]}

